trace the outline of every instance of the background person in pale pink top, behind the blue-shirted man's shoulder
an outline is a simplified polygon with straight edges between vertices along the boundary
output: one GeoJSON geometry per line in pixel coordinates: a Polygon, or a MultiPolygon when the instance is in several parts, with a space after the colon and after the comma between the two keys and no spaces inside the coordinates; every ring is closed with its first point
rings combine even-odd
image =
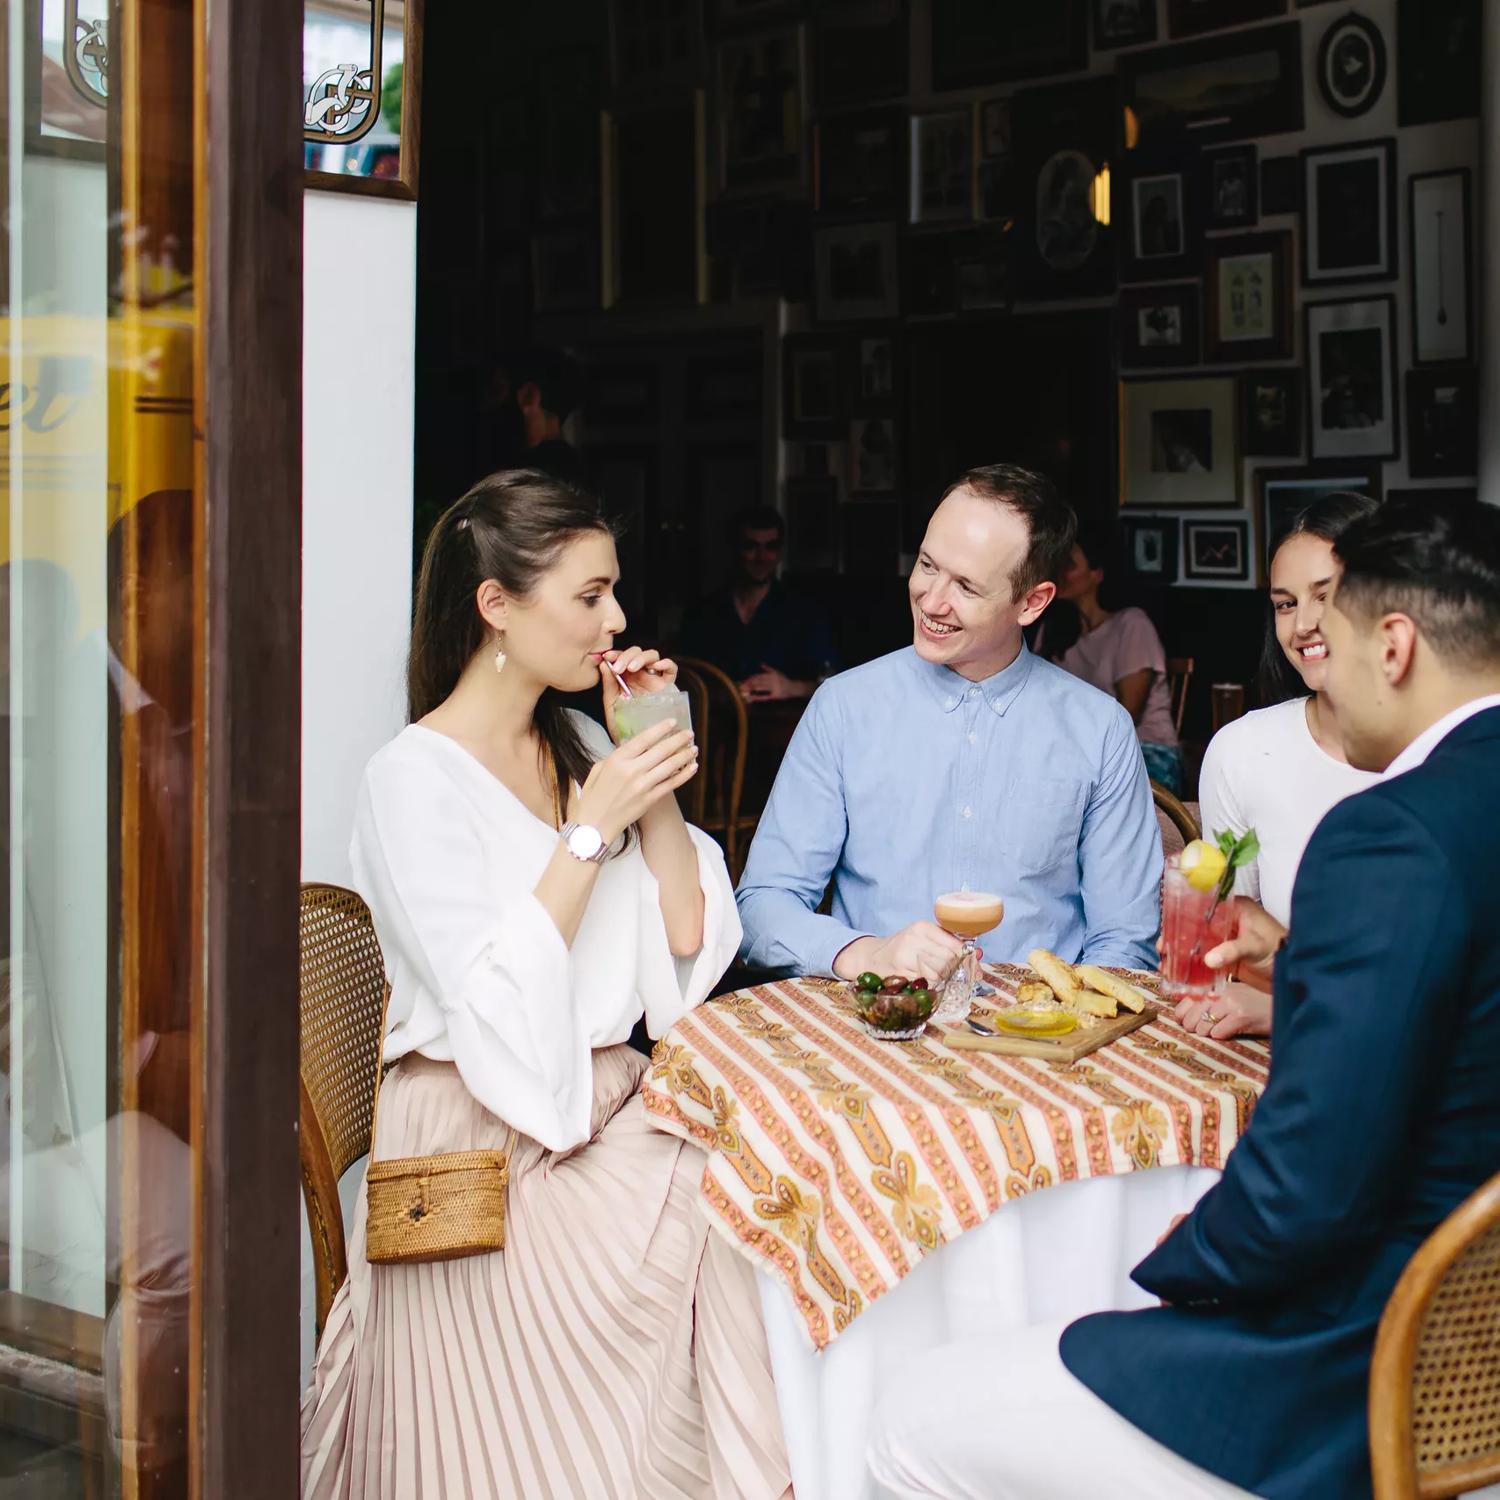
{"type": "Polygon", "coordinates": [[[1118,699],[1136,720],[1146,770],[1170,792],[1182,790],[1182,750],[1172,722],[1167,654],[1143,609],[1107,609],[1101,602],[1108,550],[1080,536],[1072,561],[1058,579],[1058,598],[1072,609],[1053,610],[1038,650],[1074,676],[1118,699]]]}

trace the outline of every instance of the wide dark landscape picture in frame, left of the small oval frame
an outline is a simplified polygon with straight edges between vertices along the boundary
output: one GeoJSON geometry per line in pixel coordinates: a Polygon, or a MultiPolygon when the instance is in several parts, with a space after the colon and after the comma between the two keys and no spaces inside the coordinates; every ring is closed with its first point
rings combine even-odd
{"type": "Polygon", "coordinates": [[[1125,52],[1119,76],[1143,142],[1174,136],[1206,146],[1300,130],[1302,22],[1125,52]]]}

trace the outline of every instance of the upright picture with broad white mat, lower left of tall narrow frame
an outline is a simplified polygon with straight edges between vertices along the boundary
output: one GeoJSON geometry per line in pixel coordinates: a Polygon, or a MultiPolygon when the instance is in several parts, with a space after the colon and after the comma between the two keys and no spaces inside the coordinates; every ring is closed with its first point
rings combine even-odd
{"type": "Polygon", "coordinates": [[[1394,459],[1396,300],[1346,297],[1308,303],[1308,430],[1314,459],[1394,459]]]}

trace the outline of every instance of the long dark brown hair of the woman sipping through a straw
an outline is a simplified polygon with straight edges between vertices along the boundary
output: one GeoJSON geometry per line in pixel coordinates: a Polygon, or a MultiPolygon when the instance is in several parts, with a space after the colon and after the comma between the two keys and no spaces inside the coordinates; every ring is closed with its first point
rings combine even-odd
{"type": "MultiPolygon", "coordinates": [[[[579,536],[614,528],[586,489],[540,470],[506,470],[482,478],[438,519],[422,554],[417,603],[406,657],[406,717],[430,714],[458,687],[459,676],[484,646],[489,627],[476,596],[494,579],[526,598],[537,580],[579,536]]],[[[580,786],[594,759],[560,694],[548,688],[532,723],[552,759],[560,812],[566,789],[580,786]]]]}

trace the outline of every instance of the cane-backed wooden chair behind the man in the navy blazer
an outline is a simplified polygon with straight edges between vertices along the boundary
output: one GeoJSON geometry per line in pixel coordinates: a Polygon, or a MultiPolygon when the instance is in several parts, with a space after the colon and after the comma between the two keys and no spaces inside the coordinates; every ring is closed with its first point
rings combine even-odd
{"type": "Polygon", "coordinates": [[[1412,1257],[1370,1365],[1376,1500],[1500,1482],[1500,1176],[1412,1257]]]}

